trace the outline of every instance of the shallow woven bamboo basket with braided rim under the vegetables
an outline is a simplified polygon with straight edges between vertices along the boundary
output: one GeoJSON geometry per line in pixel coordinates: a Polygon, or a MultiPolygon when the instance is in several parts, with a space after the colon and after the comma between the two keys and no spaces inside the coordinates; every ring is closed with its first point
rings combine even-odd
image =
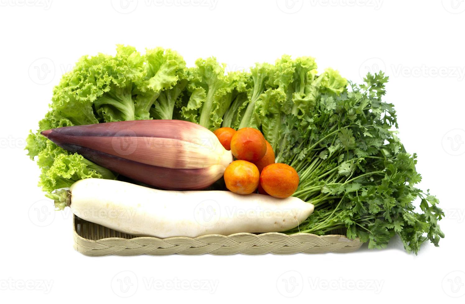
{"type": "Polygon", "coordinates": [[[236,233],[209,234],[197,238],[136,237],[104,226],[87,222],[76,215],[73,218],[74,249],[90,256],[100,255],[165,255],[165,254],[291,254],[291,253],[347,253],[360,248],[358,240],[344,235],[263,234],[236,233]]]}

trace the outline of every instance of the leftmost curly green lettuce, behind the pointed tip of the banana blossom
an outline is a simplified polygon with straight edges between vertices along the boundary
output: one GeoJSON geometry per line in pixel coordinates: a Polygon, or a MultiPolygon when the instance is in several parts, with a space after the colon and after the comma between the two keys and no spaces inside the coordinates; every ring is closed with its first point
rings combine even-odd
{"type": "Polygon", "coordinates": [[[133,47],[119,45],[115,56],[83,56],[53,89],[52,103],[36,133],[27,137],[27,155],[41,169],[44,191],[69,187],[87,177],[115,175],[78,154],[69,154],[40,131],[56,127],[134,119],[132,89],[143,76],[143,57],[133,47]]]}

